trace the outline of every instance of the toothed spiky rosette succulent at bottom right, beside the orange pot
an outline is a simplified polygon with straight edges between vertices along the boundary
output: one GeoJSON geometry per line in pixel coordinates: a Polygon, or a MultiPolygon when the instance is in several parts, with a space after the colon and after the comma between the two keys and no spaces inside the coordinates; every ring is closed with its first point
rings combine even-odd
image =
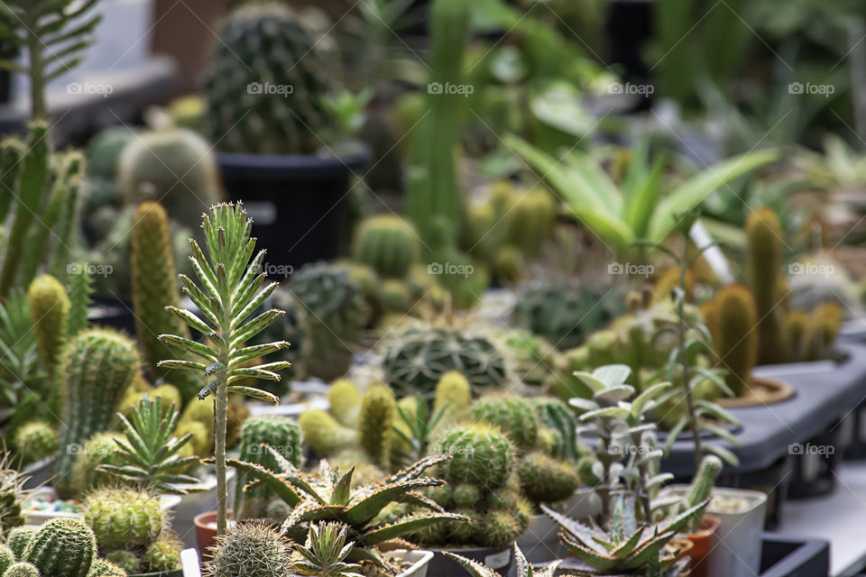
{"type": "Polygon", "coordinates": [[[613,508],[609,532],[587,527],[574,519],[560,515],[542,505],[563,532],[559,538],[571,554],[586,563],[586,569],[574,572],[576,577],[592,575],[642,575],[644,577],[676,577],[686,559],[680,559],[668,547],[671,539],[686,523],[701,514],[710,502],[706,499],[693,508],[656,524],[639,524],[635,515],[635,498],[620,495],[613,508]]]}

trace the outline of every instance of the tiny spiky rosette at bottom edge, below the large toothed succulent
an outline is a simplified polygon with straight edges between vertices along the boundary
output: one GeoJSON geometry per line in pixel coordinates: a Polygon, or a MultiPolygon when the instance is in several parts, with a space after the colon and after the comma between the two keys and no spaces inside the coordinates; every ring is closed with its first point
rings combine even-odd
{"type": "Polygon", "coordinates": [[[346,563],[353,543],[348,538],[348,527],[339,523],[310,523],[307,542],[297,545],[301,559],[292,563],[291,570],[312,577],[361,577],[361,565],[346,563]]]}

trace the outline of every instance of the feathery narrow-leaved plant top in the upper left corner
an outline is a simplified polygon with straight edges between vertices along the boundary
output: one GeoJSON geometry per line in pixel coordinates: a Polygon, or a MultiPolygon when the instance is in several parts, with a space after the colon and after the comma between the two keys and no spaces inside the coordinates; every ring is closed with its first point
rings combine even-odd
{"type": "Polygon", "coordinates": [[[78,66],[81,53],[92,43],[92,35],[102,19],[94,14],[98,0],[68,2],[31,2],[7,0],[3,12],[8,19],[0,20],[0,35],[14,41],[28,53],[26,65],[12,60],[0,62],[5,69],[30,77],[30,97],[33,118],[46,118],[48,107],[45,87],[54,78],[78,66]]]}

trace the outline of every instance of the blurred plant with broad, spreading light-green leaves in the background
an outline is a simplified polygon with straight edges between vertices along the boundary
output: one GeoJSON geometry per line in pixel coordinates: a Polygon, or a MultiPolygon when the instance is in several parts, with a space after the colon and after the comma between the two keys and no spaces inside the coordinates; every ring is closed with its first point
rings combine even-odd
{"type": "Polygon", "coordinates": [[[677,215],[698,206],[716,188],[778,158],[778,151],[755,151],[722,160],[664,192],[665,160],[651,165],[645,144],[634,151],[622,184],[617,184],[583,152],[556,159],[513,135],[505,143],[531,169],[543,175],[565,201],[571,214],[616,252],[626,252],[644,239],[663,241],[677,224],[677,215]]]}

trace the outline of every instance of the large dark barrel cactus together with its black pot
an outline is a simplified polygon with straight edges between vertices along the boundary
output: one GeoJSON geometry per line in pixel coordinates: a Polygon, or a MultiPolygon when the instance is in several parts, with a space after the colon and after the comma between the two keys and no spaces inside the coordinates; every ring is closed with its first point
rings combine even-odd
{"type": "Polygon", "coordinates": [[[217,148],[228,196],[251,211],[275,265],[337,255],[348,240],[355,172],[368,157],[330,140],[335,120],[325,102],[333,78],[320,55],[327,42],[319,40],[286,5],[241,5],[205,72],[203,131],[217,148]]]}

